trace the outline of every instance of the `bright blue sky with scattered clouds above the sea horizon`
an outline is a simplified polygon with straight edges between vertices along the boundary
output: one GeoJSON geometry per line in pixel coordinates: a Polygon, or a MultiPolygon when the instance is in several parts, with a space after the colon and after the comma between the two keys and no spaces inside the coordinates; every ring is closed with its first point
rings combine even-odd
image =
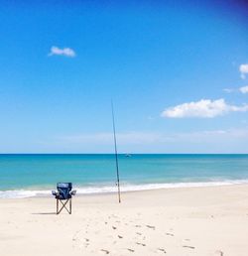
{"type": "Polygon", "coordinates": [[[248,153],[245,1],[0,3],[0,153],[248,153]]]}

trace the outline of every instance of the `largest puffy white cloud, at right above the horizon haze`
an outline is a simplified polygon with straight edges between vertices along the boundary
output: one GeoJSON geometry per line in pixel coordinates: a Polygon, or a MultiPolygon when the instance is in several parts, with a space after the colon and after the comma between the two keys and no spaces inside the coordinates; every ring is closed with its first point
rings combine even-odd
{"type": "Polygon", "coordinates": [[[184,118],[212,118],[228,112],[248,111],[248,104],[242,106],[228,105],[223,98],[217,100],[201,99],[196,102],[184,103],[169,107],[162,112],[162,117],[184,118]]]}

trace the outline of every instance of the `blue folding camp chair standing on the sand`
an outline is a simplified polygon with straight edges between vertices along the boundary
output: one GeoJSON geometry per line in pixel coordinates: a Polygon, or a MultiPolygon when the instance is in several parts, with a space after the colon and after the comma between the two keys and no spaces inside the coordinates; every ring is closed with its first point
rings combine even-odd
{"type": "Polygon", "coordinates": [[[56,213],[60,214],[62,212],[62,209],[64,208],[69,214],[71,214],[71,197],[76,193],[76,191],[71,191],[72,184],[58,183],[57,190],[58,192],[52,191],[52,193],[56,196],[57,199],[56,213]],[[60,202],[62,204],[61,208],[59,207],[60,202]],[[66,207],[67,202],[69,202],[69,208],[66,207]]]}

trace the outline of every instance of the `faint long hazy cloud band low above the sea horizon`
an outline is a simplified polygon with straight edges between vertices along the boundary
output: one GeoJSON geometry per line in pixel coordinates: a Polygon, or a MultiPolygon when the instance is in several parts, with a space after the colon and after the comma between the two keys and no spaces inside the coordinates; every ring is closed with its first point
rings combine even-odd
{"type": "MultiPolygon", "coordinates": [[[[117,133],[118,145],[151,145],[157,143],[168,143],[176,141],[208,141],[211,137],[224,136],[229,138],[248,138],[248,129],[222,129],[222,130],[201,130],[192,132],[122,132],[117,133]]],[[[94,144],[94,145],[113,145],[113,133],[84,133],[59,136],[57,142],[65,144],[94,144]]],[[[214,141],[214,140],[213,140],[214,141]]],[[[54,143],[54,142],[53,142],[54,143]]]]}

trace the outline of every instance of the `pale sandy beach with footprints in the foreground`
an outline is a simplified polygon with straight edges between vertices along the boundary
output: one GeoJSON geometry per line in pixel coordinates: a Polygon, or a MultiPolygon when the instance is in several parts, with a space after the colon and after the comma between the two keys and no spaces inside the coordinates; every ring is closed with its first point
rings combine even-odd
{"type": "Polygon", "coordinates": [[[0,200],[0,254],[248,255],[248,186],[0,200]]]}

